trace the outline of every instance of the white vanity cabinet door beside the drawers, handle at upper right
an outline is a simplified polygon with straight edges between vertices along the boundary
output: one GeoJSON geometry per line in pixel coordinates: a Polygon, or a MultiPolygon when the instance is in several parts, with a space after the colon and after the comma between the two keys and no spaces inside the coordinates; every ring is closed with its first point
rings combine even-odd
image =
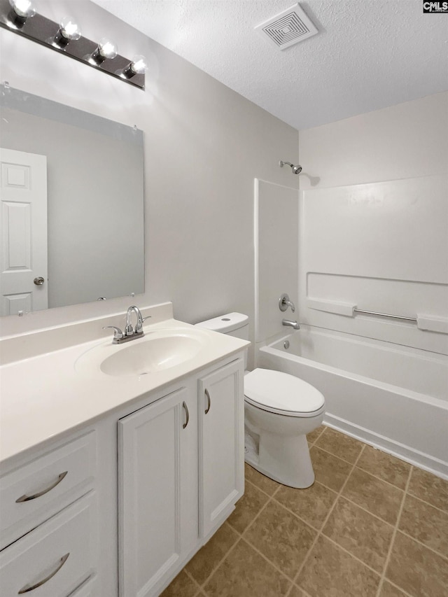
{"type": "Polygon", "coordinates": [[[120,596],[158,595],[197,544],[195,393],[180,388],[118,421],[118,512],[120,596]]]}

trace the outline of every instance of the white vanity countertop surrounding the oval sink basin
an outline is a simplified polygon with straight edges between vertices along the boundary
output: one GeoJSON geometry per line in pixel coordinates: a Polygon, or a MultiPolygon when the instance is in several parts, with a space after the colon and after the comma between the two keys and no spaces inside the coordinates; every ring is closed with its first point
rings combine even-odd
{"type": "MultiPolygon", "coordinates": [[[[204,349],[179,365],[142,376],[117,377],[77,370],[77,360],[96,347],[111,346],[111,337],[95,339],[0,367],[0,462],[59,435],[92,423],[145,393],[244,350],[249,342],[196,328],[169,318],[145,325],[146,335],[167,330],[194,333],[204,349]]],[[[123,346],[144,342],[133,340],[123,346]]],[[[121,349],[122,346],[114,346],[121,349]]],[[[109,348],[107,349],[109,350],[109,348]]]]}

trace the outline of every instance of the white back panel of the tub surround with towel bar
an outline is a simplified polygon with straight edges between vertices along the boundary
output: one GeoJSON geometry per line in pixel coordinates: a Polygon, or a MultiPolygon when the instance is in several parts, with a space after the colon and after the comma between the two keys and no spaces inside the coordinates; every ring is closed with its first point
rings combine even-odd
{"type": "Polygon", "coordinates": [[[448,176],[301,195],[300,323],[448,354],[448,176]]]}

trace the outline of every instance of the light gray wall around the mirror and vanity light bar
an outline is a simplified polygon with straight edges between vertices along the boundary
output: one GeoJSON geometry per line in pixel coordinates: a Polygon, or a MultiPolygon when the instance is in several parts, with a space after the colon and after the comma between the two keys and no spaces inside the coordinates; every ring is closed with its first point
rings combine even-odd
{"type": "MultiPolygon", "coordinates": [[[[190,323],[225,311],[251,317],[253,178],[292,184],[279,160],[297,161],[297,130],[88,1],[39,3],[78,17],[91,39],[148,57],[146,91],[1,29],[0,78],[10,85],[145,134],[146,293],[190,323]],[[69,6],[69,9],[67,8],[69,6]]],[[[1,321],[3,335],[125,309],[130,299],[62,307],[1,321]]]]}

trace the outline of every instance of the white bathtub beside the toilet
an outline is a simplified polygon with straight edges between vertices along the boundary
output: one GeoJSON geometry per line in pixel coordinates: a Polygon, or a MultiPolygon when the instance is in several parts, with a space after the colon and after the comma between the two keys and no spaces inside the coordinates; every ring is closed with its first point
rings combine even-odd
{"type": "Polygon", "coordinates": [[[318,388],[328,426],[448,479],[447,356],[303,325],[257,366],[318,388]]]}

